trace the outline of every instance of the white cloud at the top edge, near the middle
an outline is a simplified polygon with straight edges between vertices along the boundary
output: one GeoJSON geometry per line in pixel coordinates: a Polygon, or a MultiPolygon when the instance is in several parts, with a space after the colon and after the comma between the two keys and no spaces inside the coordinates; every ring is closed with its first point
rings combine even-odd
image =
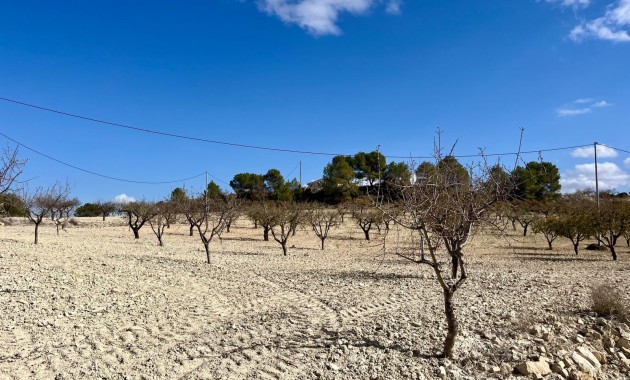
{"type": "MultiPolygon", "coordinates": [[[[309,33],[339,35],[337,26],[340,13],[361,15],[384,0],[258,0],[258,6],[269,15],[282,21],[297,24],[309,33]]],[[[402,0],[385,0],[385,10],[399,14],[402,0]]]]}

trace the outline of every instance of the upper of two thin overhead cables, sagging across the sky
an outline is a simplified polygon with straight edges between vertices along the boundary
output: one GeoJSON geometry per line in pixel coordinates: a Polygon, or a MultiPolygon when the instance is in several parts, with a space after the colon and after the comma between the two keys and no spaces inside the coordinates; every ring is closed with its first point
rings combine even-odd
{"type": "MultiPolygon", "coordinates": [[[[233,146],[233,147],[248,148],[248,149],[258,149],[258,150],[266,150],[266,151],[274,151],[274,152],[284,152],[284,153],[298,153],[298,154],[309,154],[309,155],[319,155],[319,156],[352,156],[352,154],[320,152],[320,151],[299,150],[299,149],[287,149],[287,148],[268,147],[268,146],[261,146],[261,145],[234,143],[234,142],[221,141],[221,140],[211,140],[211,139],[206,139],[206,138],[202,138],[202,137],[187,136],[187,135],[181,135],[181,134],[172,133],[172,132],[161,132],[161,131],[156,131],[156,130],[148,129],[148,128],[134,127],[134,126],[131,126],[131,125],[111,122],[111,121],[97,119],[97,118],[89,117],[89,116],[82,116],[82,115],[74,114],[74,113],[71,113],[71,112],[60,111],[60,110],[57,110],[57,109],[43,107],[43,106],[39,106],[39,105],[31,104],[31,103],[26,103],[26,102],[22,102],[22,101],[15,100],[15,99],[10,99],[10,98],[5,98],[5,97],[0,97],[0,100],[5,101],[5,102],[9,102],[9,103],[13,103],[13,104],[18,104],[18,105],[25,106],[25,107],[34,108],[34,109],[41,110],[41,111],[46,111],[46,112],[56,113],[56,114],[59,114],[59,115],[68,116],[68,117],[72,117],[72,118],[76,118],[76,119],[91,121],[91,122],[94,122],[94,123],[99,123],[99,124],[109,125],[109,126],[113,126],[113,127],[129,129],[129,130],[134,130],[134,131],[137,131],[137,132],[150,133],[150,134],[159,135],[159,136],[165,136],[165,137],[172,137],[172,138],[177,138],[177,139],[189,140],[189,141],[198,141],[198,142],[205,142],[205,143],[210,143],[210,144],[218,144],[218,145],[233,146]]],[[[576,148],[583,148],[583,147],[590,147],[590,146],[591,146],[591,144],[583,144],[583,145],[575,145],[575,146],[567,146],[567,147],[556,147],[556,148],[547,148],[547,149],[536,149],[536,150],[520,151],[520,152],[462,154],[462,155],[455,155],[455,157],[456,158],[473,158],[473,157],[515,156],[515,155],[520,155],[520,154],[553,152],[553,151],[576,149],[576,148]]],[[[621,149],[619,149],[619,150],[621,150],[621,149]]],[[[409,156],[384,155],[384,156],[387,157],[387,158],[391,158],[391,159],[403,159],[403,160],[409,160],[409,159],[430,160],[430,159],[434,159],[435,158],[434,156],[413,156],[413,155],[409,155],[409,156]]],[[[214,178],[214,176],[213,176],[213,178],[214,178]]],[[[218,178],[217,178],[217,180],[218,180],[218,178]]],[[[223,181],[221,181],[221,182],[223,182],[223,181]]]]}

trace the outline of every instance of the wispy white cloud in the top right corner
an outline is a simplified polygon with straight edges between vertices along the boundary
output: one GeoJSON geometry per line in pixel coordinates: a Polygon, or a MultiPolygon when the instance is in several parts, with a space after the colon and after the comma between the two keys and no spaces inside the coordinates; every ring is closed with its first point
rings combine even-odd
{"type": "Polygon", "coordinates": [[[606,13],[573,28],[569,38],[582,41],[594,38],[613,42],[630,42],[630,0],[619,0],[609,5],[606,13]]]}

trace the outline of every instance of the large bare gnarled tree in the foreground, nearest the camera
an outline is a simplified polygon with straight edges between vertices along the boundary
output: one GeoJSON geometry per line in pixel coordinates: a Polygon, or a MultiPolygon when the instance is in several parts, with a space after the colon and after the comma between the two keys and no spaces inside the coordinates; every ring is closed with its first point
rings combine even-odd
{"type": "Polygon", "coordinates": [[[436,164],[425,165],[429,170],[422,180],[401,189],[404,213],[396,220],[402,227],[420,234],[423,244],[420,255],[398,254],[429,266],[435,273],[444,296],[448,326],[442,355],[450,358],[459,333],[454,295],[468,279],[464,248],[479,224],[496,220],[485,216],[492,215],[491,208],[503,192],[487,186],[489,168],[485,162],[468,168],[468,178],[464,180],[459,165],[452,162],[439,165],[442,161],[439,144],[435,156],[436,164]],[[450,273],[446,268],[450,268],[450,273]]]}

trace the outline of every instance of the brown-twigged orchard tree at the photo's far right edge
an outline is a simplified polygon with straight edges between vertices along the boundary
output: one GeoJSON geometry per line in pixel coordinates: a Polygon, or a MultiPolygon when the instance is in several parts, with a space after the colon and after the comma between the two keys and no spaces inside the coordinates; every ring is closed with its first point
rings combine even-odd
{"type": "Polygon", "coordinates": [[[617,240],[630,228],[630,202],[619,198],[602,199],[595,226],[599,242],[610,250],[616,261],[617,240]]]}

